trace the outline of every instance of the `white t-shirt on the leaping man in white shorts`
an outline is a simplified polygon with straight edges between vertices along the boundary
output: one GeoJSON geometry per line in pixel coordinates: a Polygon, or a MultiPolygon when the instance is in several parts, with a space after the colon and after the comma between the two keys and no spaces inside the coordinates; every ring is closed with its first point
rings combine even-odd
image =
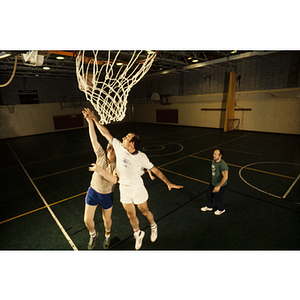
{"type": "Polygon", "coordinates": [[[129,153],[116,138],[112,139],[112,145],[117,157],[119,183],[124,185],[143,185],[142,170],[151,170],[154,167],[147,155],[141,151],[138,151],[136,154],[129,153]]]}

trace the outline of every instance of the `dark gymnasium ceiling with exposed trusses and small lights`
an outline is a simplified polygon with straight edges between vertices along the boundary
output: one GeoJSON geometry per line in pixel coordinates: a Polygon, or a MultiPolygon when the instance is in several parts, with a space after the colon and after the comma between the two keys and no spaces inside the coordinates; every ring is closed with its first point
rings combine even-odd
{"type": "MultiPolygon", "coordinates": [[[[107,52],[107,51],[101,51],[107,52]]],[[[32,66],[24,63],[22,54],[30,53],[30,50],[10,51],[0,50],[0,76],[2,78],[11,77],[15,57],[17,56],[16,77],[42,76],[42,77],[71,77],[76,76],[75,51],[39,51],[38,55],[43,56],[43,64],[32,66]],[[9,56],[4,57],[4,54],[9,56]],[[57,59],[63,57],[63,59],[57,59]],[[50,69],[44,70],[43,67],[50,69]]],[[[132,51],[124,51],[124,60],[128,61],[132,51]],[[127,59],[127,60],[126,60],[127,59]]],[[[236,60],[246,60],[257,58],[267,59],[272,51],[199,51],[199,50],[169,50],[158,51],[151,69],[145,77],[165,76],[167,74],[197,70],[201,67],[214,68],[224,66],[236,60]]],[[[106,56],[107,57],[107,56],[106,56]]],[[[3,79],[1,79],[3,81],[3,79]]],[[[3,82],[0,82],[3,84],[3,82]]]]}

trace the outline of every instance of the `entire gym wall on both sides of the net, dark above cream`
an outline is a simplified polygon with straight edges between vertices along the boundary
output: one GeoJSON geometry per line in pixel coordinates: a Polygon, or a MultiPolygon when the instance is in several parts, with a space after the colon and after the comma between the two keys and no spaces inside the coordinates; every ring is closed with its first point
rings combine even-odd
{"type": "MultiPolygon", "coordinates": [[[[300,134],[299,53],[145,77],[129,93],[124,121],[223,128],[228,74],[235,72],[240,130],[300,134]],[[150,100],[154,92],[162,101],[150,100]]],[[[86,126],[79,117],[83,107],[91,105],[75,75],[15,77],[0,88],[0,139],[86,126]]]]}

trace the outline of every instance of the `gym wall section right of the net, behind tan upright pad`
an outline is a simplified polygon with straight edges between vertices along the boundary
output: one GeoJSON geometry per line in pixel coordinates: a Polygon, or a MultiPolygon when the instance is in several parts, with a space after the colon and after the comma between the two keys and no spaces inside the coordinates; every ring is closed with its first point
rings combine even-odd
{"type": "Polygon", "coordinates": [[[157,111],[177,110],[178,123],[224,128],[229,73],[236,73],[235,118],[247,131],[300,134],[300,52],[279,52],[251,61],[235,61],[149,78],[133,87],[131,118],[162,123],[157,111]],[[161,101],[151,101],[151,94],[161,101]],[[167,98],[167,101],[166,99],[167,98]]]}

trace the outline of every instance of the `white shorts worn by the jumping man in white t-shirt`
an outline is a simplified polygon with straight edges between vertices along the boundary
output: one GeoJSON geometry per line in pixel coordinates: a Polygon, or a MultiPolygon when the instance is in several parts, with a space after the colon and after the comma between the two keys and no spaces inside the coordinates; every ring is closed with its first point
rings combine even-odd
{"type": "Polygon", "coordinates": [[[120,201],[124,204],[142,204],[148,200],[148,192],[144,185],[120,184],[120,201]]]}

